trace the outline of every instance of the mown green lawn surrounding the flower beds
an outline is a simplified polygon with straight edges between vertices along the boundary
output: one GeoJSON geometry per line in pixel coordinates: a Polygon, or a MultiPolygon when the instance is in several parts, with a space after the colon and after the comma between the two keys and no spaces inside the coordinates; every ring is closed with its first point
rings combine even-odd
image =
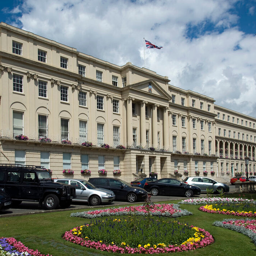
{"type": "MultiPolygon", "coordinates": [[[[256,193],[241,196],[256,200],[256,193]]],[[[230,197],[238,197],[238,194],[230,195],[230,197]]],[[[166,203],[178,203],[179,201],[172,200],[166,201],[166,203]]],[[[214,221],[222,221],[226,216],[201,212],[198,210],[199,207],[200,205],[181,205],[182,209],[193,212],[193,215],[179,217],[178,221],[205,229],[212,234],[215,242],[202,249],[177,252],[175,255],[256,255],[256,246],[249,237],[229,229],[212,226],[214,221]]],[[[84,209],[80,211],[84,211],[84,209]]],[[[74,210],[0,218],[0,236],[14,237],[31,249],[38,249],[41,253],[49,253],[53,256],[110,255],[108,252],[84,248],[61,238],[65,231],[83,225],[85,222],[82,218],[69,217],[71,212],[74,210]]],[[[241,217],[234,218],[240,219],[241,217]]]]}

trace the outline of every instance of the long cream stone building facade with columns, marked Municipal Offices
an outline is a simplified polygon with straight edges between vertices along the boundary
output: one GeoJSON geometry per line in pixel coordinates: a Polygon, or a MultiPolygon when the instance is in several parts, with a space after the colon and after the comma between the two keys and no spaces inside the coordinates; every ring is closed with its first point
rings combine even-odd
{"type": "Polygon", "coordinates": [[[126,181],[140,172],[181,179],[198,170],[229,179],[248,156],[255,172],[256,119],[169,82],[2,22],[0,163],[45,166],[53,177],[104,169],[126,181]]]}

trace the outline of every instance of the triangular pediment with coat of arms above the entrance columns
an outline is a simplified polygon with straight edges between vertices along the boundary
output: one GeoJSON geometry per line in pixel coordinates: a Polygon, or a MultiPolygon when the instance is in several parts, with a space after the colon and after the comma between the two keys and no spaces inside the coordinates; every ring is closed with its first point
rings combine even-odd
{"type": "Polygon", "coordinates": [[[130,84],[127,87],[133,91],[138,90],[140,93],[143,91],[147,94],[153,94],[154,96],[171,99],[170,95],[166,93],[166,91],[157,82],[155,82],[154,79],[148,79],[135,84],[130,84]]]}

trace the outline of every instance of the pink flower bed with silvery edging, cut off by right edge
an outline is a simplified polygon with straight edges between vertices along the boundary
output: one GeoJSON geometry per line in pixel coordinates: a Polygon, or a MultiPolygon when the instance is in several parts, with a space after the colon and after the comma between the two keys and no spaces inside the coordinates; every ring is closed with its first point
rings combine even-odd
{"type": "Polygon", "coordinates": [[[224,227],[250,237],[256,245],[256,220],[255,219],[223,219],[215,221],[214,226],[224,227]]]}

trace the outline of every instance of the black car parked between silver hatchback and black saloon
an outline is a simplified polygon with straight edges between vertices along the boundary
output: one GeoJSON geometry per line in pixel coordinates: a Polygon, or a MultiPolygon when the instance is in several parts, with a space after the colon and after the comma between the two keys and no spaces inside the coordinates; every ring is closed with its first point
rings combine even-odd
{"type": "Polygon", "coordinates": [[[132,187],[118,178],[89,178],[91,184],[98,188],[106,188],[114,192],[116,200],[127,200],[129,203],[144,201],[147,191],[143,188],[132,187]]]}

